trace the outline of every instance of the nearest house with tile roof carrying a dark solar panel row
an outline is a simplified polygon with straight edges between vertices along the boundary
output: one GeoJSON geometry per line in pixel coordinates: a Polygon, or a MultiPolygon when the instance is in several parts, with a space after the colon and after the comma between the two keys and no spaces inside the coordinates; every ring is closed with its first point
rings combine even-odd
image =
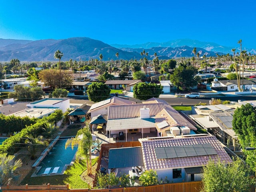
{"type": "Polygon", "coordinates": [[[215,136],[179,138],[142,138],[142,157],[145,170],[154,170],[159,180],[172,183],[200,181],[202,166],[212,159],[229,164],[232,159],[215,136]]]}

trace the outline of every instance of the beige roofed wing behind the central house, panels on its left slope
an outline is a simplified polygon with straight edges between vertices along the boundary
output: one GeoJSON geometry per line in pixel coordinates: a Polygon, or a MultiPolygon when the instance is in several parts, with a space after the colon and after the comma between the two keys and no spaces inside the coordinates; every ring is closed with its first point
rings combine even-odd
{"type": "Polygon", "coordinates": [[[113,96],[111,98],[108,98],[106,100],[100,101],[98,103],[93,104],[90,109],[88,110],[87,114],[90,114],[90,117],[93,118],[98,115],[108,115],[108,108],[112,105],[133,105],[136,104],[136,102],[119,98],[116,96],[113,96]]]}

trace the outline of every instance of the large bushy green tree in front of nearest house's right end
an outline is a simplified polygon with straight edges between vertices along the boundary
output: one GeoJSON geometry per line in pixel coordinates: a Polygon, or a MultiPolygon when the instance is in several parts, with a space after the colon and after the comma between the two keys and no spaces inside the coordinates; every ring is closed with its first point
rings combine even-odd
{"type": "Polygon", "coordinates": [[[201,192],[250,192],[250,185],[254,184],[250,169],[240,158],[228,166],[220,160],[209,160],[203,170],[201,192]]]}

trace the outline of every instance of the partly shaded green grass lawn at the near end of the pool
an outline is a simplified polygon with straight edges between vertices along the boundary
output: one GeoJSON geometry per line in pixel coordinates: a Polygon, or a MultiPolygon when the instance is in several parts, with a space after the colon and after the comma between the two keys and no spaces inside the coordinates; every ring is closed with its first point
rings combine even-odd
{"type": "MultiPolygon", "coordinates": [[[[96,164],[98,158],[92,159],[92,165],[96,164]]],[[[67,168],[63,175],[50,175],[50,176],[30,176],[34,173],[33,168],[30,173],[24,178],[20,185],[44,185],[50,183],[51,185],[66,185],[69,184],[72,189],[88,188],[88,184],[84,182],[80,175],[86,171],[86,160],[80,160],[79,163],[75,162],[74,165],[67,168]]]]}

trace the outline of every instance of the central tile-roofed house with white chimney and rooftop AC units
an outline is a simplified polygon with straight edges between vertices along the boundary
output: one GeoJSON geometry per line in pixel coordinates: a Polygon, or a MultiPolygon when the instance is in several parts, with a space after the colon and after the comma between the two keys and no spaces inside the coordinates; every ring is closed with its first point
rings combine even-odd
{"type": "Polygon", "coordinates": [[[137,132],[144,134],[154,132],[156,136],[172,136],[191,134],[196,127],[186,120],[166,101],[151,98],[142,104],[112,105],[108,109],[108,123],[106,130],[111,134],[124,132],[127,140],[128,134],[137,132]],[[176,130],[175,132],[172,130],[176,130]],[[179,131],[178,131],[179,130],[179,131]]]}

